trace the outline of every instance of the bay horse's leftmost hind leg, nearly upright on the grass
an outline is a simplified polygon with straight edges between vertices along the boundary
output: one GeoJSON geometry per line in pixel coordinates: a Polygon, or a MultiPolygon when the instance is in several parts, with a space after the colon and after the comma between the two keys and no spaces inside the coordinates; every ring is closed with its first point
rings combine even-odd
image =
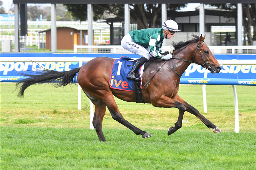
{"type": "Polygon", "coordinates": [[[88,94],[86,91],[84,91],[84,93],[90,99],[90,101],[93,102],[93,104],[95,105],[95,112],[94,112],[94,117],[93,117],[93,126],[96,130],[96,133],[97,133],[100,141],[105,142],[106,139],[105,139],[104,134],[102,132],[102,121],[103,121],[103,117],[105,116],[106,105],[102,101],[100,101],[97,98],[88,94]]]}

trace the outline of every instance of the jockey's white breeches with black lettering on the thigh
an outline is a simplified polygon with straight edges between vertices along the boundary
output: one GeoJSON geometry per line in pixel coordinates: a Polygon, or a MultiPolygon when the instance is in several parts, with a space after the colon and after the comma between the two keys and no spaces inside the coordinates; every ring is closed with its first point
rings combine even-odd
{"type": "Polygon", "coordinates": [[[130,34],[127,34],[123,37],[121,41],[121,46],[134,54],[145,57],[147,60],[152,57],[152,55],[150,55],[149,53],[149,48],[144,48],[141,45],[134,43],[130,34]]]}

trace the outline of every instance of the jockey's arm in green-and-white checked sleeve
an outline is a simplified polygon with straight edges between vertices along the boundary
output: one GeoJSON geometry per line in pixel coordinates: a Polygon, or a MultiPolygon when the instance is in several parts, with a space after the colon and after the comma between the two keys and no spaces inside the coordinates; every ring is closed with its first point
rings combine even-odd
{"type": "Polygon", "coordinates": [[[150,55],[152,55],[153,57],[156,58],[162,58],[162,51],[161,51],[161,47],[162,47],[162,43],[159,43],[160,41],[160,35],[159,34],[153,34],[150,36],[150,41],[149,41],[149,51],[150,51],[150,55]]]}

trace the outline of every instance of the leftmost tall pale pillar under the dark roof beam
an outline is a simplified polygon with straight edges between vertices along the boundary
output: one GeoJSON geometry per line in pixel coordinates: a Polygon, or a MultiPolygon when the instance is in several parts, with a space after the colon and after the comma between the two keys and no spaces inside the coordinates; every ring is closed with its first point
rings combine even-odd
{"type": "Polygon", "coordinates": [[[19,52],[19,4],[14,4],[14,51],[19,52]]]}

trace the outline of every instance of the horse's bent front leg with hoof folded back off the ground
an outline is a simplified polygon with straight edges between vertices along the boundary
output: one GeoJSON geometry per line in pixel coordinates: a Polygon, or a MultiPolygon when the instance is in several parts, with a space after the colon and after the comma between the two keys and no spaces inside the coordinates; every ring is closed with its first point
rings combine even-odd
{"type": "Polygon", "coordinates": [[[175,124],[174,127],[171,126],[171,128],[168,129],[168,135],[173,134],[174,132],[176,132],[178,129],[181,128],[183,115],[186,110],[185,106],[182,103],[175,101],[165,95],[162,95],[160,98],[151,99],[151,103],[155,107],[165,107],[165,108],[176,107],[177,109],[179,109],[178,120],[176,123],[174,123],[175,124]]]}

